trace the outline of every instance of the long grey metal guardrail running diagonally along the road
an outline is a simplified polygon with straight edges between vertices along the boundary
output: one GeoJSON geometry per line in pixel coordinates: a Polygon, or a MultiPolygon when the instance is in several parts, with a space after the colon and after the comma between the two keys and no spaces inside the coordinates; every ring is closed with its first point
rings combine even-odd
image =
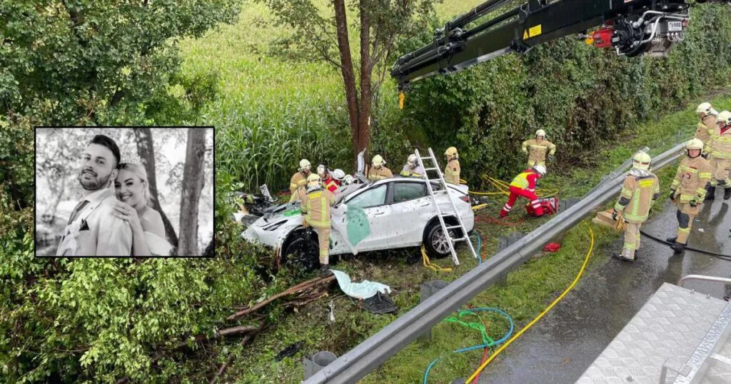
{"type": "MultiPolygon", "coordinates": [[[[678,144],[653,159],[653,169],[659,170],[681,156],[683,144],[678,144]]],[[[550,239],[573,227],[599,206],[618,195],[624,173],[607,181],[599,189],[586,195],[574,206],[567,208],[523,236],[519,241],[497,252],[485,263],[478,265],[450,285],[386,325],[332,364],[310,377],[305,383],[355,383],[399,350],[409,345],[444,317],[455,312],[474,296],[498,282],[502,275],[518,268],[550,239]]]]}

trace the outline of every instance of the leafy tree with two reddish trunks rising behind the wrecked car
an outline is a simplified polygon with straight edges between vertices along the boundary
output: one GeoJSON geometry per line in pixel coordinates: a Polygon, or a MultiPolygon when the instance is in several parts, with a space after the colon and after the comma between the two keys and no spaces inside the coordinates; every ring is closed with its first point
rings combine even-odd
{"type": "Polygon", "coordinates": [[[436,1],[332,0],[327,7],[314,0],[260,1],[273,11],[278,26],[292,28],[274,49],[295,59],[325,61],[341,72],[355,159],[370,145],[371,104],[399,38],[423,29],[436,1]],[[357,17],[355,41],[349,34],[349,13],[357,17]],[[357,60],[352,50],[357,50],[357,60]]]}

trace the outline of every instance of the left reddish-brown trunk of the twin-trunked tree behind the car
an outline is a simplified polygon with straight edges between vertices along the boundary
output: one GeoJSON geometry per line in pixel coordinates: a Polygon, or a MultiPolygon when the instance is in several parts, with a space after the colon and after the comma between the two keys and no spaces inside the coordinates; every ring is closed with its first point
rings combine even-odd
{"type": "Polygon", "coordinates": [[[335,23],[338,31],[338,50],[340,51],[340,69],[345,85],[345,99],[348,104],[350,132],[353,135],[353,159],[357,166],[358,146],[360,145],[360,128],[358,118],[358,98],[353,74],[353,60],[350,56],[350,40],[348,39],[348,20],[345,13],[345,0],[333,0],[335,23]]]}

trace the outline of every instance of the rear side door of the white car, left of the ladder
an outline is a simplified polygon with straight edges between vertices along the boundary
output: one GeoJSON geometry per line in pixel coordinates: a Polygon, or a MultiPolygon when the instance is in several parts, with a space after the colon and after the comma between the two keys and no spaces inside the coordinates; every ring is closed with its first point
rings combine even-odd
{"type": "Polygon", "coordinates": [[[391,183],[391,216],[393,230],[388,242],[392,248],[420,244],[426,223],[434,216],[431,197],[423,181],[391,183]]]}

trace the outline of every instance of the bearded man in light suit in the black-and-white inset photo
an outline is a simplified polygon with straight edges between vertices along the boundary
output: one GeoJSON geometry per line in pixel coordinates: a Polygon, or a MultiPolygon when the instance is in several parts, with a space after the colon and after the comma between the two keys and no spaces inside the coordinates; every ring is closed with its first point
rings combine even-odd
{"type": "Polygon", "coordinates": [[[114,193],[119,148],[114,140],[96,135],[80,158],[78,180],[84,192],[69,217],[57,256],[129,256],[132,228],[114,217],[114,193]]]}

